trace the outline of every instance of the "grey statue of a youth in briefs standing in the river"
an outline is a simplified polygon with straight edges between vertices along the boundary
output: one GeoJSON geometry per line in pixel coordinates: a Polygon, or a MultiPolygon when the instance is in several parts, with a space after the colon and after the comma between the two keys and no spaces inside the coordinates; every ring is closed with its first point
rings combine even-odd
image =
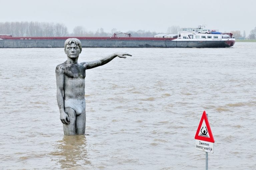
{"type": "Polygon", "coordinates": [[[115,57],[126,58],[128,53],[114,53],[100,60],[78,63],[82,51],[80,40],[69,38],[64,51],[67,60],[56,66],[57,102],[64,135],[85,133],[85,70],[102,66],[115,57]]]}

